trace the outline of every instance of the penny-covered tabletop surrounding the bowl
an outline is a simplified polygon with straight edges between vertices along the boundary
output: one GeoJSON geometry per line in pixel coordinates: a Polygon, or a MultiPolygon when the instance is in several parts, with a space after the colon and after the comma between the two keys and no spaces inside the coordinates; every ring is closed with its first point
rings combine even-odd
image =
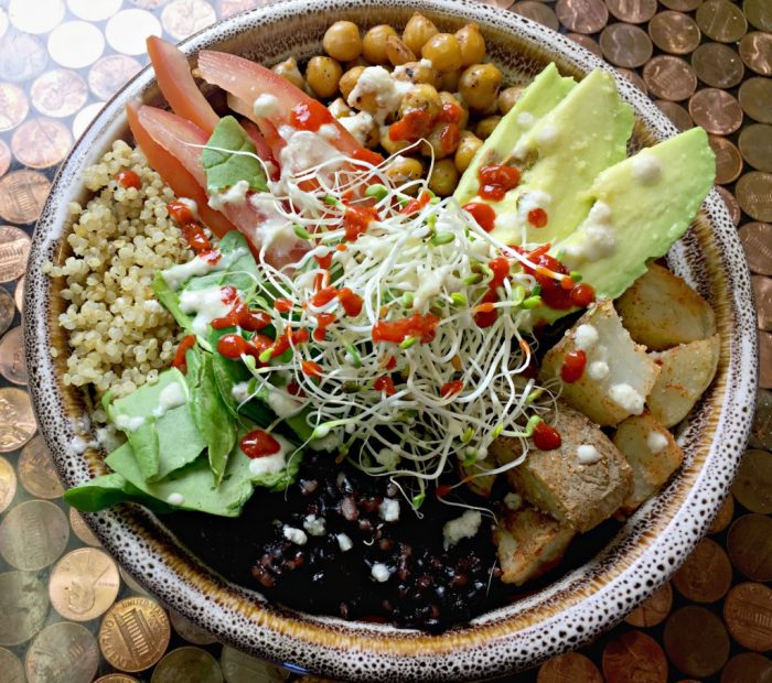
{"type": "MultiPolygon", "coordinates": [[[[74,141],[147,62],[144,37],[180,41],[267,3],[0,0],[0,310],[11,311],[11,299],[17,306],[0,339],[1,388],[25,386],[19,294],[26,236],[74,141]]],[[[672,582],[594,643],[508,680],[772,682],[772,0],[490,3],[568,33],[620,67],[677,127],[697,123],[711,133],[718,188],[753,272],[761,337],[750,451],[708,538],[672,582]]],[[[158,607],[101,553],[62,492],[39,436],[0,455],[0,682],[299,679],[216,643],[176,615],[165,653],[119,675],[99,639],[116,600],[142,596],[146,609],[158,607]],[[66,531],[66,546],[44,567],[15,573],[28,567],[14,561],[14,543],[40,519],[66,531]]]]}

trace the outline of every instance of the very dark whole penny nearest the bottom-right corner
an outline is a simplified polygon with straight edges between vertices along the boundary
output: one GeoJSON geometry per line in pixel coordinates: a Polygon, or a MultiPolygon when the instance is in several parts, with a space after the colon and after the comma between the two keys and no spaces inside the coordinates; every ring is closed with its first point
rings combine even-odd
{"type": "Polygon", "coordinates": [[[709,609],[695,605],[671,615],[664,643],[671,662],[689,676],[709,676],[729,658],[729,636],[723,624],[709,609]]]}

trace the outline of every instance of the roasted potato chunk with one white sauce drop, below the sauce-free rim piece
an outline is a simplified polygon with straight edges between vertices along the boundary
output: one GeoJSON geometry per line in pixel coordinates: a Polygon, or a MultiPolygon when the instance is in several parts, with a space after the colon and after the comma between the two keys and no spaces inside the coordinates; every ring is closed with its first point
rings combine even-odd
{"type": "Polygon", "coordinates": [[[622,503],[625,512],[631,512],[667,481],[684,452],[648,411],[620,423],[613,442],[633,470],[633,490],[622,503]]]}

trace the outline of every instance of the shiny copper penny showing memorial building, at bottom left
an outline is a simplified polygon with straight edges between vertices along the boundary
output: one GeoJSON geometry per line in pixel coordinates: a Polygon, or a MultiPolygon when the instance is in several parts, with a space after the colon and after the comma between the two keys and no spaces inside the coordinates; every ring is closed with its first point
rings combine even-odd
{"type": "Polygon", "coordinates": [[[116,603],[99,627],[99,648],[116,669],[133,673],[158,662],[167,650],[171,627],[161,606],[144,597],[116,603]]]}

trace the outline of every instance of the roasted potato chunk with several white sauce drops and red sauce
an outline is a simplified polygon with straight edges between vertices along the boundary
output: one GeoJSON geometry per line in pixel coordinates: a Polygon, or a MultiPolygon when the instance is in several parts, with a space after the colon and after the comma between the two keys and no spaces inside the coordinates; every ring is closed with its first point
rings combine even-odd
{"type": "Polygon", "coordinates": [[[583,350],[581,377],[565,382],[561,398],[601,425],[614,426],[643,412],[660,369],[635,344],[610,301],[592,306],[544,357],[542,379],[559,379],[566,356],[583,350]]]}

